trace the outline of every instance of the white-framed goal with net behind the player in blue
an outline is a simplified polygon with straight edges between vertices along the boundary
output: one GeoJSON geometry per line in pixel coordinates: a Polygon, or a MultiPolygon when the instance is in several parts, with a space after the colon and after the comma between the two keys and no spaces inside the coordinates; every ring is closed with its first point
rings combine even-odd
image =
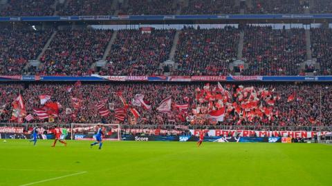
{"type": "Polygon", "coordinates": [[[95,140],[98,125],[104,132],[103,140],[120,141],[121,129],[119,124],[100,124],[100,123],[72,123],[71,139],[72,140],[95,140]]]}

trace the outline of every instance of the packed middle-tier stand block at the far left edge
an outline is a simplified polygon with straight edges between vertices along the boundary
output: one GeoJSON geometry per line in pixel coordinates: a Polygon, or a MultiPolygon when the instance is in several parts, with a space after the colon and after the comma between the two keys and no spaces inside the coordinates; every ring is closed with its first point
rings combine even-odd
{"type": "Polygon", "coordinates": [[[49,30],[0,30],[0,74],[24,74],[28,60],[37,58],[50,35],[49,30]]]}

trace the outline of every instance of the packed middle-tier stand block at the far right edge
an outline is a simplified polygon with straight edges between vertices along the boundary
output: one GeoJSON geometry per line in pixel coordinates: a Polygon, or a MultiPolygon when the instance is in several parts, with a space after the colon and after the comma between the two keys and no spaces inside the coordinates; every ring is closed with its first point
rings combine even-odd
{"type": "Polygon", "coordinates": [[[311,50],[313,58],[320,63],[320,74],[332,74],[332,30],[325,28],[311,28],[311,50]]]}

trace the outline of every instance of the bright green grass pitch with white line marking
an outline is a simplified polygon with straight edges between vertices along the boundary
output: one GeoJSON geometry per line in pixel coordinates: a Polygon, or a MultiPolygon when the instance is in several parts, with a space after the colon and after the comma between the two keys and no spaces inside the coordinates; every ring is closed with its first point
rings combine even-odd
{"type": "Polygon", "coordinates": [[[332,145],[0,142],[0,185],[332,185],[332,145]]]}

